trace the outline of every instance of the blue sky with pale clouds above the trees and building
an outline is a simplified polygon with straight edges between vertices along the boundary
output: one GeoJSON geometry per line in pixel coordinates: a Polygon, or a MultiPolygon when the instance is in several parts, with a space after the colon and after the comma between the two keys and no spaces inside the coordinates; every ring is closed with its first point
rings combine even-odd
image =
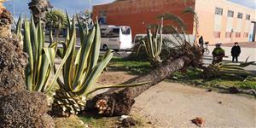
{"type": "MultiPolygon", "coordinates": [[[[14,12],[15,5],[15,14],[29,14],[27,3],[31,0],[9,0],[9,2],[4,3],[5,6],[11,11],[14,12]]],[[[69,15],[73,15],[77,12],[84,11],[89,9],[89,0],[49,0],[50,3],[56,9],[67,9],[69,15]]],[[[113,0],[91,0],[92,5],[102,4],[102,3],[111,3],[113,0]]],[[[256,0],[230,0],[231,2],[238,3],[244,6],[247,6],[252,9],[256,9],[256,0]]]]}

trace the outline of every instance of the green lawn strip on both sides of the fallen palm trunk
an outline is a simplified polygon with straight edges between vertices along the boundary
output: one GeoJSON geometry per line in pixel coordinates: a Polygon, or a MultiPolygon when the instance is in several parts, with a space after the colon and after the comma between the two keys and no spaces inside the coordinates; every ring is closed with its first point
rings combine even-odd
{"type": "MultiPolygon", "coordinates": [[[[148,73],[152,70],[148,61],[128,61],[120,57],[113,57],[108,64],[108,67],[118,68],[126,71],[130,71],[135,74],[148,73]]],[[[188,67],[186,72],[177,71],[172,74],[171,79],[166,81],[180,82],[185,84],[201,84],[205,87],[211,87],[212,85],[223,85],[226,87],[236,86],[241,89],[254,89],[256,90],[255,79],[234,79],[234,78],[214,78],[214,79],[202,79],[202,69],[188,67]]]]}

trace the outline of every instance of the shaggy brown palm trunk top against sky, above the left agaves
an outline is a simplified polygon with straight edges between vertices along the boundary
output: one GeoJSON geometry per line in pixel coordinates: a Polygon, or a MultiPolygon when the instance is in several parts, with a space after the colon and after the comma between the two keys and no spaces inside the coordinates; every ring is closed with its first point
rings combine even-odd
{"type": "Polygon", "coordinates": [[[35,23],[38,24],[39,19],[41,19],[43,25],[45,21],[44,17],[46,11],[48,11],[48,9],[53,8],[53,6],[49,3],[48,0],[32,0],[31,3],[28,3],[28,6],[28,9],[31,9],[32,11],[35,23]]]}

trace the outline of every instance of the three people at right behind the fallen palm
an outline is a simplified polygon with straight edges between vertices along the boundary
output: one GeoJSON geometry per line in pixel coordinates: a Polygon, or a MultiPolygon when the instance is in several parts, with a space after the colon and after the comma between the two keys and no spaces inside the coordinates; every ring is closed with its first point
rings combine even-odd
{"type": "MultiPolygon", "coordinates": [[[[200,45],[204,44],[202,36],[201,36],[201,38],[199,38],[199,44],[200,45]]],[[[212,64],[219,63],[219,62],[223,61],[223,58],[225,56],[225,51],[224,51],[224,49],[221,48],[221,44],[218,43],[215,46],[216,46],[215,49],[213,49],[213,51],[212,51],[212,56],[213,56],[212,64]]],[[[241,54],[241,47],[236,42],[231,49],[232,61],[238,62],[238,56],[240,54],[241,54]]]]}

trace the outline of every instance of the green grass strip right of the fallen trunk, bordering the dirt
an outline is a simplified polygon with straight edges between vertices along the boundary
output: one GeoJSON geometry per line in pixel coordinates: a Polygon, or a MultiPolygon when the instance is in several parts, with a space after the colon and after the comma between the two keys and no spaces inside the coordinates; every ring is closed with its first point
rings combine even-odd
{"type": "Polygon", "coordinates": [[[185,84],[195,84],[195,85],[223,85],[226,87],[236,86],[240,89],[253,89],[256,90],[256,80],[246,79],[234,79],[234,78],[217,78],[217,79],[202,79],[202,70],[198,68],[189,67],[186,72],[178,71],[172,74],[171,81],[185,83],[185,84]]]}

